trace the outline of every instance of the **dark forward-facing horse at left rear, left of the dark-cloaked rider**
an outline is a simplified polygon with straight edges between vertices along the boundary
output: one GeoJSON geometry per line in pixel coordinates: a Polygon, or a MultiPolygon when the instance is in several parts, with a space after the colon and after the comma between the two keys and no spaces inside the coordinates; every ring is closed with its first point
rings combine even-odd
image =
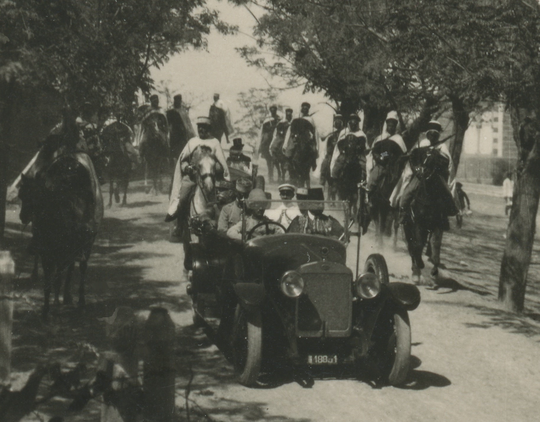
{"type": "Polygon", "coordinates": [[[161,173],[170,161],[170,148],[168,145],[168,127],[165,114],[159,110],[148,110],[139,107],[140,119],[140,147],[139,152],[146,163],[148,178],[152,180],[152,188],[156,195],[163,191],[163,180],[161,173]]]}

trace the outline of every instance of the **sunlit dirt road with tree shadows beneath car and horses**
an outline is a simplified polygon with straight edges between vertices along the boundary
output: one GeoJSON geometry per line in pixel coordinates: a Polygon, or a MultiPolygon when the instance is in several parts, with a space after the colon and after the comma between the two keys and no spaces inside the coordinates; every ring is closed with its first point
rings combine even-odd
{"type": "MultiPolygon", "coordinates": [[[[501,311],[496,290],[504,242],[502,206],[498,198],[470,196],[473,216],[443,241],[442,259],[448,268],[441,271],[442,287],[421,287],[422,303],[410,314],[414,369],[402,388],[378,388],[356,379],[316,379],[311,389],[303,389],[287,374],[271,389],[238,385],[231,364],[202,329],[191,325],[181,246],[167,241],[168,227],[163,222],[166,196],[148,196],[140,184],[129,195],[129,206],[113,206],[105,212],[90,261],[84,314],[62,308],[45,325],[37,314],[42,303],[40,284],[30,279],[31,260],[24,254],[28,230],[21,231],[14,207],[8,215],[8,247],[20,271],[12,363],[15,385],[38,362],[74,365],[81,345],[105,350],[104,323],[97,318],[112,315],[119,305],[144,317],[152,305],[159,304],[170,311],[176,324],[177,404],[183,418],[186,385],[193,371],[191,420],[536,421],[540,411],[538,266],[531,267],[525,316],[501,311]]],[[[367,256],[375,249],[369,236],[363,242],[362,255],[367,256]]],[[[404,247],[401,241],[400,245],[404,247]]],[[[410,261],[404,251],[383,254],[392,278],[408,281],[410,261]]],[[[538,262],[539,256],[536,249],[533,260],[538,262]]],[[[83,413],[65,414],[65,407],[64,400],[52,400],[40,407],[39,417],[48,420],[63,414],[66,422],[99,420],[96,400],[83,413]]],[[[31,414],[25,420],[39,417],[31,414]]]]}

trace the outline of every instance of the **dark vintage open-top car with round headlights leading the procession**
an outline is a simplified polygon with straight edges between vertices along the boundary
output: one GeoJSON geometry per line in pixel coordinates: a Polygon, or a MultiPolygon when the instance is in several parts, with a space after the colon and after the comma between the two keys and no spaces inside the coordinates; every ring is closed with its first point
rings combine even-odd
{"type": "MultiPolygon", "coordinates": [[[[303,208],[313,206],[308,202],[303,208]]],[[[327,209],[333,204],[318,201],[327,209]]],[[[307,368],[367,363],[386,383],[406,379],[408,311],[419,305],[420,292],[390,283],[380,254],[370,255],[358,274],[360,234],[349,230],[355,224],[347,203],[334,208],[329,214],[344,216],[340,238],[287,233],[279,223],[262,222],[258,237],[253,228],[241,242],[192,244],[194,321],[221,318],[218,332],[231,346],[240,383],[257,385],[268,362],[280,360],[307,368]],[[356,274],[347,266],[348,246],[356,246],[356,274]]]]}

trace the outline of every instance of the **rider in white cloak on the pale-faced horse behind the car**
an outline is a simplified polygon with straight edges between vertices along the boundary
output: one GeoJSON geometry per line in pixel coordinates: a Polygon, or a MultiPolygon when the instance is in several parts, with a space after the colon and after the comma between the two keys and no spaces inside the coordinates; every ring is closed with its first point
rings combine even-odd
{"type": "Polygon", "coordinates": [[[206,146],[212,150],[213,155],[223,167],[225,180],[229,180],[225,154],[221,149],[219,140],[212,137],[210,127],[209,118],[199,117],[197,119],[197,132],[199,136],[191,138],[180,153],[176,167],[174,168],[171,198],[165,217],[166,222],[172,221],[178,216],[189,212],[189,201],[197,187],[197,183],[195,183],[195,170],[191,166],[191,158],[192,153],[198,146],[206,146]]]}

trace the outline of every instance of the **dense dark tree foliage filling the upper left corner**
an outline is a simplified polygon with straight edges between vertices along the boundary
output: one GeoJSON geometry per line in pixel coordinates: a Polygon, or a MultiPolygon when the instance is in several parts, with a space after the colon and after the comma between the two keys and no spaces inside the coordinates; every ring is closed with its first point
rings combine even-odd
{"type": "Polygon", "coordinates": [[[212,25],[232,30],[204,0],[2,0],[0,81],[125,110],[150,91],[150,67],[205,46],[212,25]]]}

